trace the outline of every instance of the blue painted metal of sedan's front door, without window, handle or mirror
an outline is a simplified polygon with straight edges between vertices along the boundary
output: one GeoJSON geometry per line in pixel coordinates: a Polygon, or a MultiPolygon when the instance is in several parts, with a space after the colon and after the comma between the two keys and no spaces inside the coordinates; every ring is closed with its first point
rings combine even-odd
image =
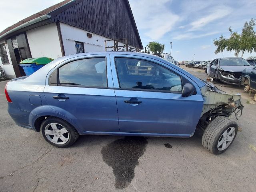
{"type": "MultiPolygon", "coordinates": [[[[192,80],[186,77],[195,86],[197,94],[186,98],[182,97],[181,93],[123,90],[119,87],[114,58],[115,55],[110,56],[120,132],[187,135],[194,133],[202,111],[203,99],[200,89],[192,80]],[[130,99],[142,103],[134,105],[124,102],[130,99]]],[[[156,62],[139,56],[133,58],[156,62]]],[[[164,63],[161,65],[171,68],[164,63]]],[[[174,68],[171,69],[180,74],[174,68]]]]}

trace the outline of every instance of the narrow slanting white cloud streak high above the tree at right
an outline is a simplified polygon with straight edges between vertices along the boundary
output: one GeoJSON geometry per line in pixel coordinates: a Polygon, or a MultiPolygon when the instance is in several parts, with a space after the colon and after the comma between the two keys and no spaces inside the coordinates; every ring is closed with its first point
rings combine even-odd
{"type": "Polygon", "coordinates": [[[231,12],[231,9],[228,7],[220,8],[220,9],[214,8],[213,12],[211,14],[209,14],[208,16],[202,17],[199,20],[196,20],[196,21],[190,23],[192,28],[189,31],[198,30],[214,20],[217,20],[217,19],[223,18],[224,16],[227,16],[228,14],[230,14],[230,12],[231,12]]]}

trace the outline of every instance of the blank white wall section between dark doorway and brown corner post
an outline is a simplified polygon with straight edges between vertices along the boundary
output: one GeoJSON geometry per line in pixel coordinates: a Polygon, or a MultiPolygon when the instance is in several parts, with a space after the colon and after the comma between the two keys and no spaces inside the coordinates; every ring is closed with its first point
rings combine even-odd
{"type": "Polygon", "coordinates": [[[62,56],[56,23],[40,26],[26,31],[32,57],[62,56]]]}

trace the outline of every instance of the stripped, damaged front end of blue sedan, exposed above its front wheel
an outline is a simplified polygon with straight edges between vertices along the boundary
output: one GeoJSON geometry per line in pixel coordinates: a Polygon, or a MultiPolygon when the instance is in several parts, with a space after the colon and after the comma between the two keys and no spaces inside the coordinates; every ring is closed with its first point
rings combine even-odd
{"type": "Polygon", "coordinates": [[[242,115],[244,106],[241,103],[240,94],[226,94],[226,92],[219,90],[213,84],[205,83],[206,86],[201,88],[204,105],[198,122],[200,128],[205,129],[209,122],[217,116],[229,117],[234,113],[236,119],[238,119],[238,114],[242,115]]]}

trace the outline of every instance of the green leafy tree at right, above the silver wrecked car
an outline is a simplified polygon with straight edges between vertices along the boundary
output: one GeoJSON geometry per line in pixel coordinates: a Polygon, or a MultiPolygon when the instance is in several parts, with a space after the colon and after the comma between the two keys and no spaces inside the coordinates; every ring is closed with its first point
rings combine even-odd
{"type": "Polygon", "coordinates": [[[239,53],[242,52],[241,57],[243,57],[244,52],[256,52],[256,32],[254,31],[255,19],[251,19],[249,23],[246,21],[242,29],[242,33],[233,32],[231,27],[228,29],[230,31],[230,37],[226,39],[223,35],[219,39],[213,40],[213,44],[217,47],[215,54],[227,51],[234,51],[234,56],[238,57],[239,53]]]}

